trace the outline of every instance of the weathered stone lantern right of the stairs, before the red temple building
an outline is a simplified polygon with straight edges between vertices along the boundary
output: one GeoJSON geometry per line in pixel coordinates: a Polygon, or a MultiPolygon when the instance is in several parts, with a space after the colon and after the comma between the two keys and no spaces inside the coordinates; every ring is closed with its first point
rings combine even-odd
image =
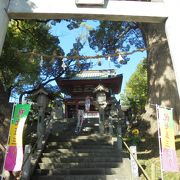
{"type": "Polygon", "coordinates": [[[98,85],[94,91],[96,94],[96,102],[97,102],[97,107],[99,109],[99,131],[100,133],[104,133],[104,109],[107,106],[107,101],[106,101],[106,93],[109,92],[107,88],[105,88],[103,85],[98,85]]]}

